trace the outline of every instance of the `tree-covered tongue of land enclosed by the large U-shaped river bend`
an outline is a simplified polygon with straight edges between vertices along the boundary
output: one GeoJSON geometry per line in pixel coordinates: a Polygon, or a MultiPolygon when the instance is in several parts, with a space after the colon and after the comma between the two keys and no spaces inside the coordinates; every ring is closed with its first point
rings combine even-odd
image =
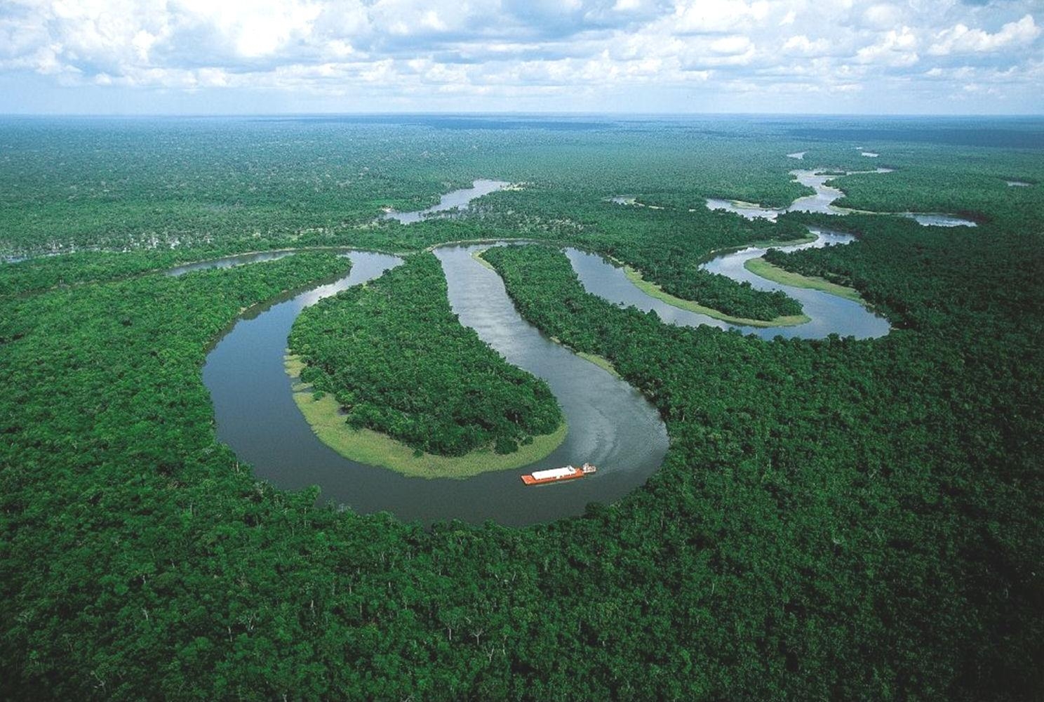
{"type": "MultiPolygon", "coordinates": [[[[290,350],[305,364],[301,379],[333,394],[351,427],[418,451],[513,453],[562,429],[547,383],[509,366],[460,325],[438,259],[427,252],[306,309],[293,324],[290,350]]],[[[549,451],[549,442],[542,445],[549,451]]],[[[473,474],[480,460],[461,463],[461,474],[473,474]]],[[[438,476],[450,470],[441,464],[438,476]]]]}

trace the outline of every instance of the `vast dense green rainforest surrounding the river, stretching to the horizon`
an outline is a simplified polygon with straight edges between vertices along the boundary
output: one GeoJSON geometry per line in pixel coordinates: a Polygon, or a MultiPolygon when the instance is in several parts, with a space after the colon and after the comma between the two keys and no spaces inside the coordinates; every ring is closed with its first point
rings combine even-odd
{"type": "MultiPolygon", "coordinates": [[[[0,697],[1039,698],[1044,159],[868,122],[858,141],[848,121],[782,118],[3,122],[3,253],[79,253],[0,264],[0,697]],[[856,144],[897,170],[838,179],[853,206],[980,227],[701,209],[783,206],[807,194],[783,155],[851,169],[856,144]],[[446,219],[374,221],[479,177],[527,185],[446,219]],[[619,194],[664,209],[606,202],[619,194]],[[714,250],[806,225],[858,239],[768,257],[853,285],[888,335],[673,327],[587,294],[556,248],[666,288],[714,250]],[[216,441],[208,350],[242,310],[347,263],[157,271],[483,237],[554,244],[484,257],[527,320],[609,359],[660,412],[670,449],[641,489],[525,529],[412,523],[281,490],[216,441]]],[[[328,329],[431,342],[413,318],[349,310],[395,315],[394,298],[456,344],[433,265],[411,256],[408,275],[321,303],[295,334],[325,309],[328,329]]],[[[452,374],[455,358],[417,368],[452,374]]]]}

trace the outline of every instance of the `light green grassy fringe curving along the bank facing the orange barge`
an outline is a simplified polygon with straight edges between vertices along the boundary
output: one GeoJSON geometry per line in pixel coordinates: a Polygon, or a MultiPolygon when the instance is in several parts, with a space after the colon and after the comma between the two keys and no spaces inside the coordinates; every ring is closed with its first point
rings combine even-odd
{"type": "Polygon", "coordinates": [[[300,358],[288,355],[285,367],[287,375],[294,380],[293,401],[319,441],[350,461],[383,466],[409,477],[465,478],[495,470],[520,468],[540,461],[557,448],[565,441],[569,428],[563,420],[554,431],[533,437],[531,443],[520,445],[513,453],[496,453],[492,447],[457,457],[425,453],[385,434],[352,428],[333,395],[315,393],[310,384],[300,381],[304,367],[300,358]],[[316,395],[319,396],[316,398],[316,395]]]}

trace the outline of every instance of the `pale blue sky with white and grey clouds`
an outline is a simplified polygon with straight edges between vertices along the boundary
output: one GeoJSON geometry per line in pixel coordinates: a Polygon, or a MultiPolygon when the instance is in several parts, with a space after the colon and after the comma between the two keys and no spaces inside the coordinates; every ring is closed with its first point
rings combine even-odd
{"type": "Polygon", "coordinates": [[[1044,0],[0,0],[0,113],[1042,114],[1044,0]]]}

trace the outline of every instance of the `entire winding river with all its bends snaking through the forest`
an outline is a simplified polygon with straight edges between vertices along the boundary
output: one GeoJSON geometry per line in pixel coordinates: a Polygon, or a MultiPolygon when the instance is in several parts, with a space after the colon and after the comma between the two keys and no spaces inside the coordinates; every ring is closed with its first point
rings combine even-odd
{"type": "MultiPolygon", "coordinates": [[[[476,182],[476,187],[467,191],[444,195],[443,203],[452,205],[441,209],[461,207],[471,198],[505,185],[487,181],[480,186],[476,182]]],[[[803,200],[809,201],[809,207],[829,207],[826,202],[829,194],[832,193],[818,200],[815,196],[803,200]]],[[[400,221],[416,221],[422,216],[395,214],[418,215],[400,221]]],[[[852,240],[845,234],[811,231],[816,235],[815,241],[785,250],[852,240]]],[[[500,244],[446,244],[433,251],[442,263],[449,301],[460,323],[473,328],[507,362],[546,380],[562,405],[569,431],[563,444],[546,459],[524,468],[467,479],[426,479],[350,461],[318,440],[293,401],[291,380],[284,370],[290,327],[305,307],[352,285],[365,283],[402,262],[388,254],[351,250],[340,250],[340,255],[352,260],[348,275],[252,308],[217,341],[207,357],[203,375],[214,403],[218,440],[250,462],[258,477],[281,488],[292,490],[317,485],[325,499],[359,513],[387,511],[402,519],[426,523],[441,519],[470,522],[492,519],[509,525],[549,521],[580,514],[589,502],[610,502],[641,486],[659,468],[668,446],[666,427],[656,408],[625,381],[555,344],[523,320],[500,277],[473,257],[490,245],[500,244]],[[531,470],[584,461],[596,464],[599,471],[583,481],[543,488],[527,488],[519,479],[520,474],[531,470]]],[[[272,260],[292,253],[232,256],[177,266],[168,273],[183,275],[208,267],[272,260]]],[[[785,290],[801,301],[811,318],[809,323],[794,327],[736,327],[649,297],[627,280],[621,268],[595,254],[574,248],[566,248],[565,253],[589,291],[619,304],[656,310],[668,323],[735,328],[762,338],[778,335],[820,338],[830,333],[868,338],[888,331],[886,321],[855,302],[774,283],[748,272],[744,261],[762,255],[762,249],[729,253],[708,262],[706,267],[761,289],[785,290]]]]}

